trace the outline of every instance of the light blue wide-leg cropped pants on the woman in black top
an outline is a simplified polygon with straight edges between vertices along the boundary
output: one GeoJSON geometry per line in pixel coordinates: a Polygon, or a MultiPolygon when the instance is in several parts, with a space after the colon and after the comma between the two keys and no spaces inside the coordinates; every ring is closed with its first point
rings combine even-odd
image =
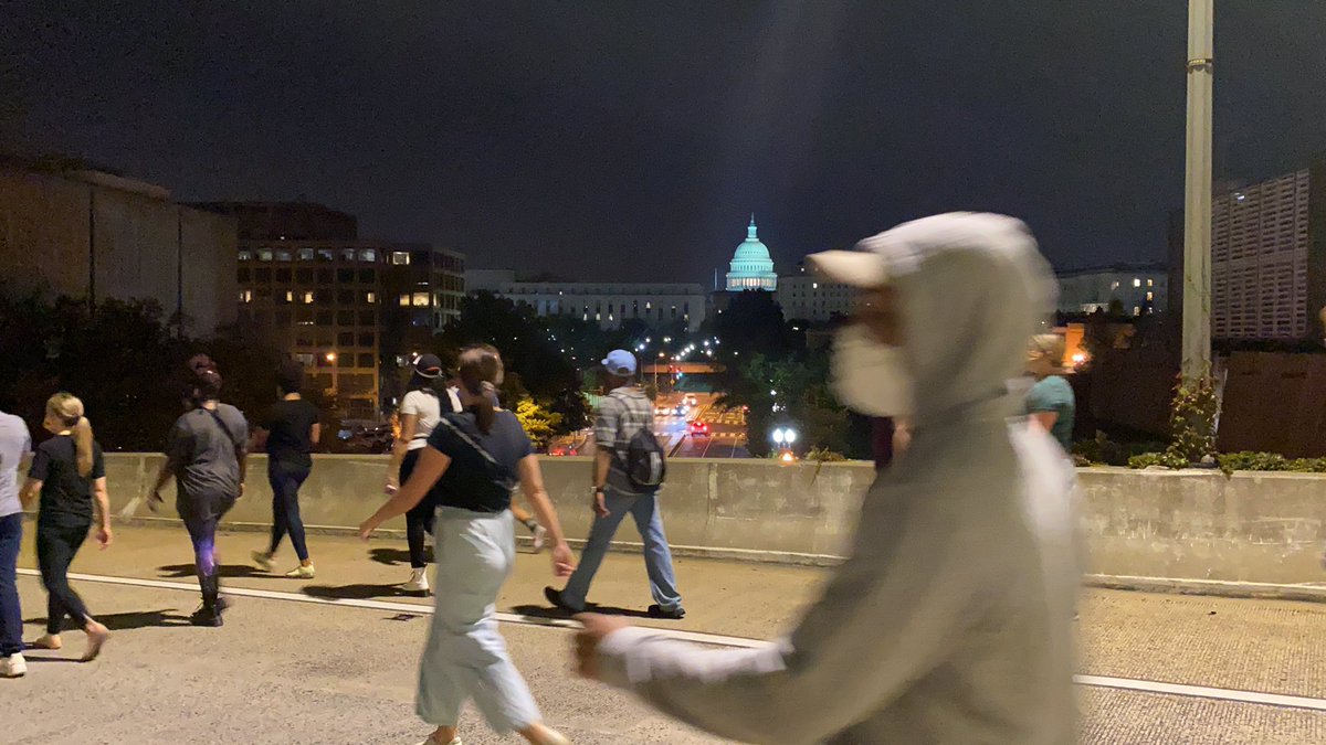
{"type": "Polygon", "coordinates": [[[493,612],[516,559],[509,510],[439,508],[434,526],[438,610],[419,664],[415,711],[434,726],[455,726],[475,707],[499,733],[541,721],[529,685],[507,654],[493,612]]]}

